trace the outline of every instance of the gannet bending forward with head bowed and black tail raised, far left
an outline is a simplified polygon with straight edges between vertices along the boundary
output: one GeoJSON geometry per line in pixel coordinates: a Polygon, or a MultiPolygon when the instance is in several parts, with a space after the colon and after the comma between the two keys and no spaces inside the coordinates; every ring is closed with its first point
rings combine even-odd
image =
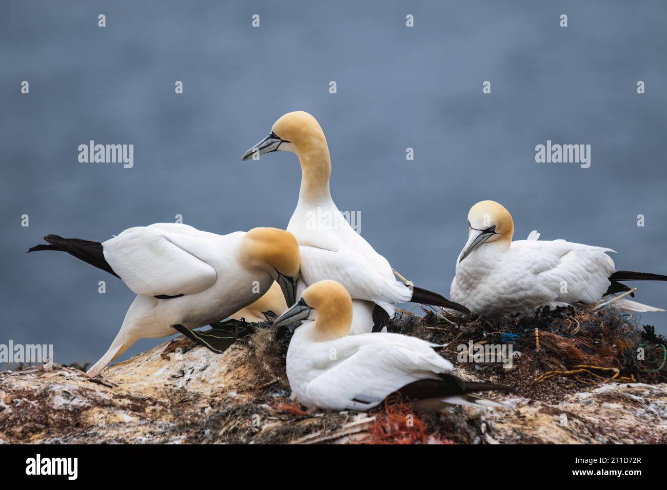
{"type": "Polygon", "coordinates": [[[109,350],[89,371],[95,377],[140,338],[177,331],[219,352],[229,337],[192,331],[246,307],[273,281],[292,302],[299,273],[299,247],[288,231],[253,228],[215,235],[189,225],[156,223],[129,228],[99,243],[57,235],[29,252],[57,250],[123,280],[137,294],[109,350]]]}

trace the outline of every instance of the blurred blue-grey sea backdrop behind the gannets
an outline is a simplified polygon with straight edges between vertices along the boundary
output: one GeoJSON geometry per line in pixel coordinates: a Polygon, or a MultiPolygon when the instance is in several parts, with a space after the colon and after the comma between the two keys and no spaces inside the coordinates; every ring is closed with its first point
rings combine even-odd
{"type": "MultiPolygon", "coordinates": [[[[177,214],[217,233],[285,227],[297,158],[240,156],[297,109],[325,131],[338,207],[422,287],[449,294],[482,199],[510,209],[518,239],[538,229],[667,273],[666,14],[662,0],[3,1],[0,343],[97,361],[133,299],[69,255],[25,255],[47,233],[104,241],[177,214]],[[91,139],[132,143],[134,167],[79,163],[91,139]],[[591,167],[536,163],[548,139],[592,145],[591,167]]],[[[636,285],[667,306],[667,284],[636,285]]],[[[665,315],[641,321],[666,333],[665,315]]]]}

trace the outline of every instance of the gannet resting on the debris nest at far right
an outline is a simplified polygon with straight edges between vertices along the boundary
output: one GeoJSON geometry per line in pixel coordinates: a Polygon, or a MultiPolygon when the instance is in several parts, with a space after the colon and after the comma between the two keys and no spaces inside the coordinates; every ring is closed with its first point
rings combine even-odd
{"type": "MultiPolygon", "coordinates": [[[[476,315],[532,315],[544,305],[590,305],[605,296],[630,291],[620,281],[667,281],[667,276],[616,271],[606,252],[612,249],[527,240],[512,241],[512,215],[495,201],[482,201],[468,213],[468,243],[456,261],[450,296],[476,315]]],[[[629,299],[618,307],[630,311],[664,311],[629,299]]]]}

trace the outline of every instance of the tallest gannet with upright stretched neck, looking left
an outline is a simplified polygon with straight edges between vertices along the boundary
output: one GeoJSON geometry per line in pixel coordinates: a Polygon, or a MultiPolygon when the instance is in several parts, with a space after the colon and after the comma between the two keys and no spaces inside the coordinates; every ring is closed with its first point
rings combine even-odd
{"type": "Polygon", "coordinates": [[[382,330],[394,316],[396,303],[405,301],[469,313],[438,293],[396,281],[387,259],[342,217],[329,192],[329,147],[313,116],[303,111],[283,115],[242,160],[271,151],[292,151],[301,163],[299,201],[287,225],[301,253],[299,294],[323,279],[342,283],[353,299],[353,334],[382,330]]]}

